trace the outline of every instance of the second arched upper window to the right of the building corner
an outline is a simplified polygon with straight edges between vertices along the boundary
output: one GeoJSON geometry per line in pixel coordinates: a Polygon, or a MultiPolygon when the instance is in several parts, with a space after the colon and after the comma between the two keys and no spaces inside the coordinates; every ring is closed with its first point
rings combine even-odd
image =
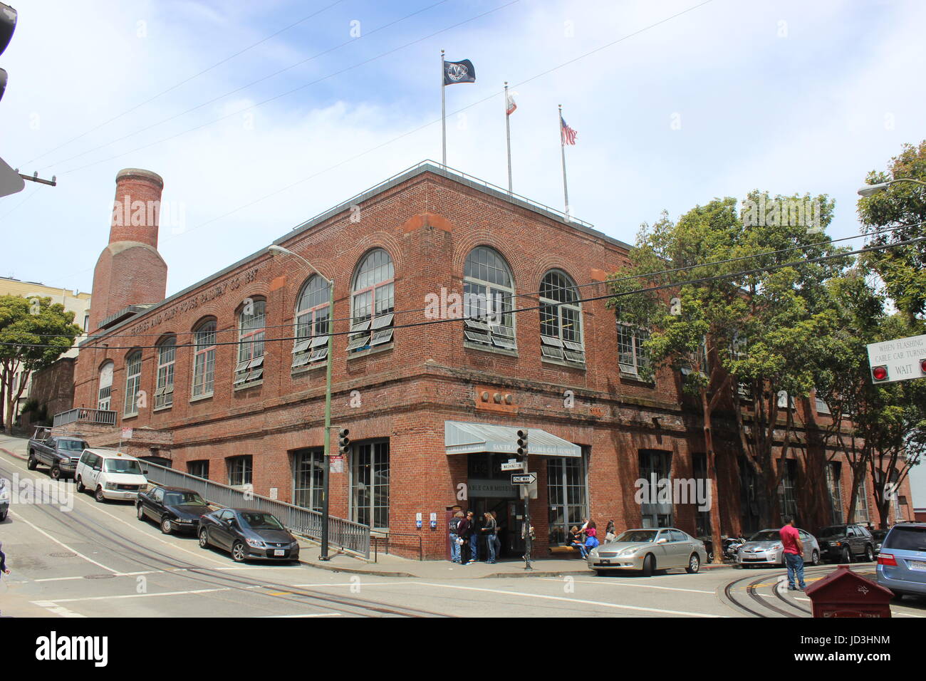
{"type": "Polygon", "coordinates": [[[540,351],[545,358],[585,363],[579,291],[564,271],[546,272],[540,284],[540,351]]]}

